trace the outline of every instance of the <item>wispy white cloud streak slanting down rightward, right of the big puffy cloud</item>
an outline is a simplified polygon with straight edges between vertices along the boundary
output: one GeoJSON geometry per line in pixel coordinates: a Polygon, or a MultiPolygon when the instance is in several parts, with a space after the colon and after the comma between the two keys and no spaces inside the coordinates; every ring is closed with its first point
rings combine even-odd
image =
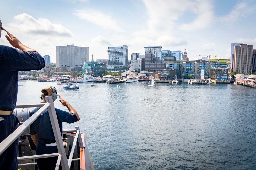
{"type": "Polygon", "coordinates": [[[78,16],[80,19],[92,22],[103,29],[124,32],[124,30],[118,26],[115,19],[112,19],[112,14],[103,14],[101,11],[96,12],[95,10],[77,10],[74,15],[78,16]]]}

